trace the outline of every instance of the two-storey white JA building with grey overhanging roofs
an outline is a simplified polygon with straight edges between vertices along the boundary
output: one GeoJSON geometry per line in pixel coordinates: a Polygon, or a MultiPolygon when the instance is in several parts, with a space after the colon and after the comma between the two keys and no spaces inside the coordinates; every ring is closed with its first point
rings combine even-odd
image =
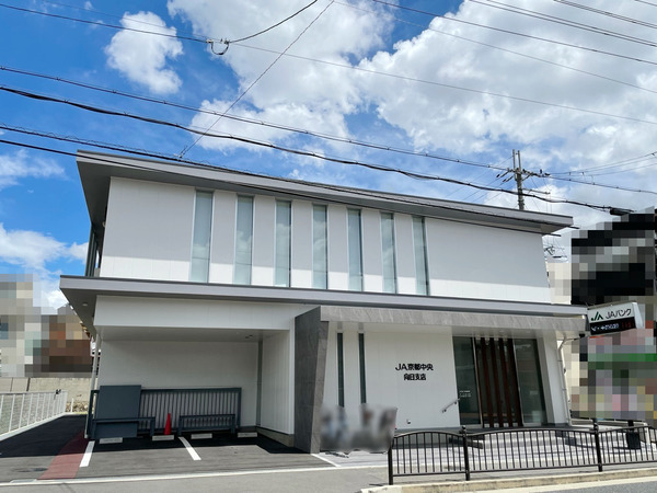
{"type": "Polygon", "coordinates": [[[542,236],[564,216],[80,152],[99,383],[239,387],[242,427],[318,451],[322,406],[399,428],[565,423],[542,236]],[[458,401],[458,404],[457,404],[458,401]]]}

